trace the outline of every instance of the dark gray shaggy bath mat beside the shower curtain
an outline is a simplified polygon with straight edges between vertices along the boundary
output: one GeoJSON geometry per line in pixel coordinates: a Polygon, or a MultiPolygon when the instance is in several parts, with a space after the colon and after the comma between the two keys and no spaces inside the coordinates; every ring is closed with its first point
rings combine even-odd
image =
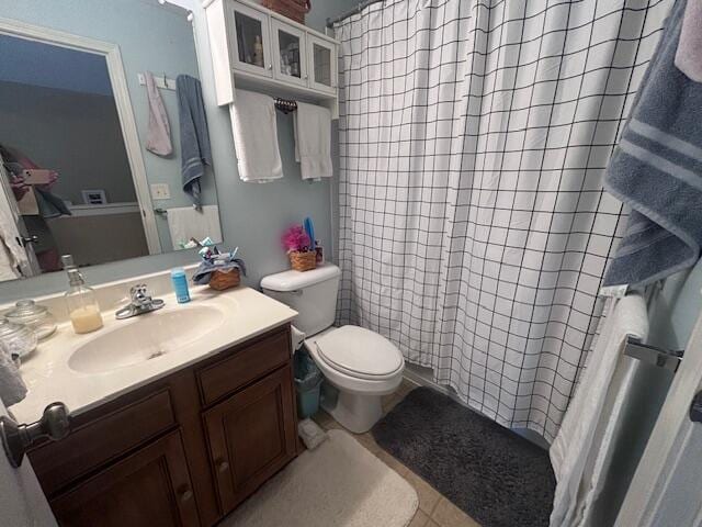
{"type": "Polygon", "coordinates": [[[377,444],[484,527],[548,525],[548,452],[428,388],[373,427],[377,444]]]}

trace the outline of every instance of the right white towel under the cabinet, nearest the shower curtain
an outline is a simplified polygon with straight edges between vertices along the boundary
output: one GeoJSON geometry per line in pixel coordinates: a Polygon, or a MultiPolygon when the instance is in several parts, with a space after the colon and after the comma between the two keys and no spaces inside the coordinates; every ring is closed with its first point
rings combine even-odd
{"type": "Polygon", "coordinates": [[[316,104],[297,103],[293,113],[295,160],[303,179],[330,178],[331,112],[316,104]]]}

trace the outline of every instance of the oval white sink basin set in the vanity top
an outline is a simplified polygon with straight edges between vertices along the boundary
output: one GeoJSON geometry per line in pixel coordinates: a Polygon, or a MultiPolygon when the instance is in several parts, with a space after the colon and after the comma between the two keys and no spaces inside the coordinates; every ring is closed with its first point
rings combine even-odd
{"type": "Polygon", "coordinates": [[[82,373],[101,373],[157,359],[216,329],[224,318],[224,311],[212,305],[135,316],[78,347],[68,366],[82,373]]]}

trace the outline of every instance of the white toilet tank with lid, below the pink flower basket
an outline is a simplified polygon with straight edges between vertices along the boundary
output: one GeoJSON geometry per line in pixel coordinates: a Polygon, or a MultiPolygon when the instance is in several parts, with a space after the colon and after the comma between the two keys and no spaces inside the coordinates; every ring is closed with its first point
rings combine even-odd
{"type": "Polygon", "coordinates": [[[307,336],[316,335],[333,324],[341,270],[332,265],[310,271],[284,271],[261,280],[269,296],[290,305],[298,314],[293,324],[307,336]]]}

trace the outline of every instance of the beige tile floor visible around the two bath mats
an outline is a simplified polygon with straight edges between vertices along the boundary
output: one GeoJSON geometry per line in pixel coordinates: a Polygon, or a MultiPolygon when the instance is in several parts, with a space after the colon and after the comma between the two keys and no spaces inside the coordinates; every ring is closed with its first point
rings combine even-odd
{"type": "MultiPolygon", "coordinates": [[[[393,395],[388,395],[383,400],[383,411],[389,412],[399,403],[417,384],[404,380],[400,388],[393,395]]],[[[325,429],[341,428],[333,418],[324,411],[319,411],[313,417],[319,426],[325,429]]],[[[479,527],[478,523],[467,516],[463,511],[453,505],[449,500],[442,496],[429,483],[415,474],[411,470],[393,458],[385,450],[381,449],[373,439],[371,433],[352,434],[358,441],[367,448],[372,453],[383,460],[395,472],[405,478],[417,491],[419,496],[419,508],[417,514],[409,524],[409,527],[479,527]]]]}

